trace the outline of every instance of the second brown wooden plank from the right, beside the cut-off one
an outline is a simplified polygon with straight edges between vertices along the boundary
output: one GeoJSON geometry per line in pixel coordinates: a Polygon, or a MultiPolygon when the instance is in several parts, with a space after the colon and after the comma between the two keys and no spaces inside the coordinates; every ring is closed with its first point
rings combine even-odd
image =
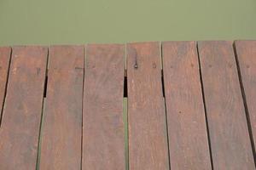
{"type": "Polygon", "coordinates": [[[232,42],[199,42],[214,169],[255,169],[232,42]]]}

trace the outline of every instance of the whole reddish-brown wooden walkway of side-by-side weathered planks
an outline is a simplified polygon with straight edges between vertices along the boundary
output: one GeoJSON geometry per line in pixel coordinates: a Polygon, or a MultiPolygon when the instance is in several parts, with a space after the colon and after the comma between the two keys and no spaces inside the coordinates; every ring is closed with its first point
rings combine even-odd
{"type": "Polygon", "coordinates": [[[255,169],[255,97],[256,41],[0,48],[0,170],[255,169]]]}

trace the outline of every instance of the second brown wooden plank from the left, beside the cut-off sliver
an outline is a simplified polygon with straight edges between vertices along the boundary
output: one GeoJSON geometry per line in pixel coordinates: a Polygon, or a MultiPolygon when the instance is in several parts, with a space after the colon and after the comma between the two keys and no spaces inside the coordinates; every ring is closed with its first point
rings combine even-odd
{"type": "Polygon", "coordinates": [[[0,169],[35,169],[48,49],[15,47],[0,129],[0,169]]]}

